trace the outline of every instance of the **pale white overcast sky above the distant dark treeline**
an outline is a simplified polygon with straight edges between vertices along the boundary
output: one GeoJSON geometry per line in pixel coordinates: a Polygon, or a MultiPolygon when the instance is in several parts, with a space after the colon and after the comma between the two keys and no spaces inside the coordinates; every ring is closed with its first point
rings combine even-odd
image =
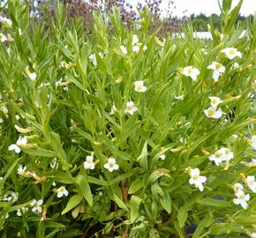
{"type": "MultiPolygon", "coordinates": [[[[174,2],[174,6],[176,9],[173,9],[174,15],[177,17],[183,17],[184,15],[190,16],[192,13],[198,15],[200,13],[204,13],[207,16],[212,13],[220,14],[220,8],[217,0],[172,0],[174,2]],[[184,11],[185,14],[184,14],[184,11]]],[[[132,5],[136,5],[138,0],[126,0],[126,2],[131,3],[132,5]]],[[[144,0],[139,1],[141,3],[144,0]]],[[[168,0],[162,0],[161,9],[167,9],[168,0]]],[[[222,3],[222,0],[220,1],[222,3]]],[[[239,1],[233,0],[233,5],[236,5],[239,1]]],[[[250,14],[254,14],[256,11],[256,0],[244,0],[244,4],[242,5],[241,15],[247,16],[250,14]]]]}

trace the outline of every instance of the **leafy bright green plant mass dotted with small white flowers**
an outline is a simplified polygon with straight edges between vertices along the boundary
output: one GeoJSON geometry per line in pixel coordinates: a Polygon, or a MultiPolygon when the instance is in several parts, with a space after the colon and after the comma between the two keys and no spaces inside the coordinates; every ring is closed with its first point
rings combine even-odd
{"type": "Polygon", "coordinates": [[[61,5],[45,30],[8,4],[2,237],[256,233],[255,17],[235,26],[224,1],[213,41],[158,39],[147,11],[139,30],[95,13],[88,34],[61,5]]]}

